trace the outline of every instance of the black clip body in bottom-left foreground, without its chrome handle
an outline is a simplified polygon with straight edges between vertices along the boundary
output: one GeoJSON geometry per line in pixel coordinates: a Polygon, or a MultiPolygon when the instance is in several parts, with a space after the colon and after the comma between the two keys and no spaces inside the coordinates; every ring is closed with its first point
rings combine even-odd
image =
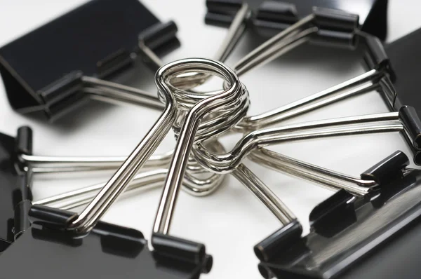
{"type": "MultiPolygon", "coordinates": [[[[54,216],[63,222],[74,215],[34,205],[29,215],[54,216]]],[[[201,264],[186,263],[150,252],[140,231],[99,222],[85,236],[58,231],[36,218],[32,228],[1,255],[1,276],[27,278],[199,278],[201,264]],[[25,268],[17,268],[25,266],[25,268]],[[69,268],[71,267],[71,268],[69,268]],[[65,272],[63,272],[65,271],[65,272]]]]}

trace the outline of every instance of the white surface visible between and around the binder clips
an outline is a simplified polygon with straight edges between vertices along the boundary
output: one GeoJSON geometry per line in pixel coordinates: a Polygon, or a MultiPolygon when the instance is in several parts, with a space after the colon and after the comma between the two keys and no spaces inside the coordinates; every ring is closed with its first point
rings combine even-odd
{"type": "MultiPolygon", "coordinates": [[[[83,2],[0,0],[0,46],[83,2]]],[[[204,1],[143,0],[143,3],[162,21],[173,19],[178,24],[182,46],[163,57],[164,62],[183,57],[212,57],[225,36],[226,29],[204,24],[204,1]]],[[[417,0],[389,1],[387,41],[393,41],[421,26],[420,6],[417,0]]],[[[227,64],[232,66],[260,42],[247,34],[227,64]]],[[[362,72],[357,55],[345,50],[305,46],[253,70],[241,80],[250,91],[252,105],[249,114],[257,114],[316,93],[362,72]]],[[[152,72],[145,70],[131,76],[131,79],[139,88],[156,93],[152,72]]],[[[380,96],[373,92],[286,123],[385,111],[387,108],[380,96]]],[[[15,113],[6,100],[4,88],[0,87],[0,131],[15,135],[18,126],[30,125],[34,130],[34,154],[126,155],[158,116],[159,111],[151,109],[92,103],[51,124],[15,113]]],[[[223,142],[230,148],[236,139],[229,138],[223,142]]],[[[172,149],[174,144],[171,134],[158,151],[172,149]]],[[[401,137],[396,134],[312,140],[281,144],[271,149],[350,175],[359,175],[396,149],[408,152],[401,137]]],[[[331,192],[250,162],[246,164],[295,212],[307,232],[310,210],[331,192]]],[[[104,174],[99,177],[36,177],[34,197],[52,196],[106,179],[107,175],[104,174]]],[[[161,191],[156,189],[120,200],[104,220],[139,229],[149,238],[160,195],[161,191]]],[[[279,226],[279,222],[239,182],[227,177],[225,184],[213,196],[194,198],[181,192],[171,233],[206,244],[208,252],[213,254],[214,266],[212,272],[203,275],[203,278],[260,278],[258,260],[252,247],[279,226]]]]}

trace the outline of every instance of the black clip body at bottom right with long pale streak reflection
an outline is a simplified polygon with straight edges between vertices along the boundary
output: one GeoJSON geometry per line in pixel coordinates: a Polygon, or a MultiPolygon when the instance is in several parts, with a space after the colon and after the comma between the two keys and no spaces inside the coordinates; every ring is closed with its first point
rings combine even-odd
{"type": "Polygon", "coordinates": [[[370,199],[338,191],[310,214],[311,230],[259,265],[264,278],[413,278],[420,241],[420,170],[397,151],[361,177],[382,183],[370,199]],[[405,163],[406,162],[406,163],[405,163]],[[393,174],[393,175],[392,175],[393,174]],[[398,268],[400,267],[400,268],[398,268]]]}

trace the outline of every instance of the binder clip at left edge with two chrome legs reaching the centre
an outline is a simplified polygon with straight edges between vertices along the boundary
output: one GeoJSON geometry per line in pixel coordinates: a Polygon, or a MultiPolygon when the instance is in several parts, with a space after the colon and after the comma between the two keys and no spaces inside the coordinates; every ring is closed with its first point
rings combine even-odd
{"type": "MultiPolygon", "coordinates": [[[[102,189],[103,183],[86,186],[56,196],[34,200],[32,180],[38,174],[60,172],[93,172],[98,170],[116,170],[125,161],[125,157],[74,157],[74,156],[39,156],[32,153],[32,129],[24,126],[18,129],[16,137],[0,133],[1,144],[1,215],[0,215],[0,252],[6,250],[30,226],[27,216],[31,205],[44,205],[62,210],[75,210],[88,204],[95,194],[102,189]]],[[[223,151],[221,144],[210,147],[213,151],[223,151]]],[[[154,189],[161,186],[168,170],[166,169],[171,153],[155,155],[145,163],[143,172],[133,178],[124,194],[137,193],[139,190],[154,189]]],[[[192,196],[207,196],[213,193],[223,177],[197,177],[187,173],[183,189],[192,196]]]]}

